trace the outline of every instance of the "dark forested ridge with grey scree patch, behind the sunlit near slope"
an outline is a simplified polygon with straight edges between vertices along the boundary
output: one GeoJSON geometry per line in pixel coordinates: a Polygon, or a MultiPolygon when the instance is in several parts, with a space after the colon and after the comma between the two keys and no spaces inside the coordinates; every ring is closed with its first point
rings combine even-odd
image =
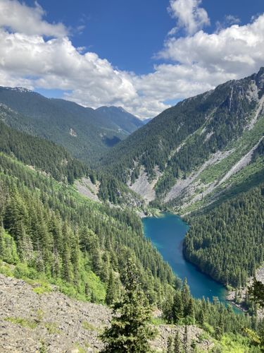
{"type": "MultiPolygon", "coordinates": [[[[0,116],[17,115],[0,107],[0,116]]],[[[65,184],[75,184],[88,198],[110,201],[115,205],[133,205],[140,212],[144,202],[122,182],[111,175],[95,172],[87,164],[75,159],[65,148],[55,143],[15,130],[0,121],[0,152],[15,157],[32,169],[65,184]]]]}

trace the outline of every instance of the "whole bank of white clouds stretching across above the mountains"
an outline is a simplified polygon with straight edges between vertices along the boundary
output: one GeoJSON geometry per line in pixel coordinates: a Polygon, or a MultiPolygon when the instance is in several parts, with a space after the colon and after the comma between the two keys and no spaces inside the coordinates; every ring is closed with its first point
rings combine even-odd
{"type": "Polygon", "coordinates": [[[237,20],[208,34],[202,30],[209,18],[201,0],[171,0],[169,11],[176,28],[187,35],[173,36],[172,30],[158,53],[163,64],[137,76],[75,48],[68,29],[47,23],[38,4],[0,0],[0,85],[60,89],[67,91],[66,99],[84,106],[118,105],[144,118],[169,107],[167,101],[213,89],[263,66],[263,14],[252,23],[239,25],[237,20]]]}

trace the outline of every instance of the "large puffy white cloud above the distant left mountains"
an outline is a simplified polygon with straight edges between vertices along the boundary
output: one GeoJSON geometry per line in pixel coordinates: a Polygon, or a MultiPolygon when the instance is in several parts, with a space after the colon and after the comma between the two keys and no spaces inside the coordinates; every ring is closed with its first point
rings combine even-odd
{"type": "Polygon", "coordinates": [[[114,70],[95,53],[81,54],[68,37],[45,41],[0,30],[0,57],[0,68],[10,76],[30,76],[36,87],[86,91],[91,105],[117,97],[126,102],[136,94],[127,73],[114,70]]]}

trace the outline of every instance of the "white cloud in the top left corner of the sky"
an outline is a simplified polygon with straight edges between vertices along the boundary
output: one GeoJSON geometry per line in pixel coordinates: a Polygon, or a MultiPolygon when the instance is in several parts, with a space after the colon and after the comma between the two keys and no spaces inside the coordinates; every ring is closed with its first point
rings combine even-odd
{"type": "Polygon", "coordinates": [[[37,1],[34,7],[30,7],[17,0],[0,0],[0,27],[26,35],[61,37],[67,34],[62,23],[47,23],[43,20],[44,15],[45,11],[37,1]]]}

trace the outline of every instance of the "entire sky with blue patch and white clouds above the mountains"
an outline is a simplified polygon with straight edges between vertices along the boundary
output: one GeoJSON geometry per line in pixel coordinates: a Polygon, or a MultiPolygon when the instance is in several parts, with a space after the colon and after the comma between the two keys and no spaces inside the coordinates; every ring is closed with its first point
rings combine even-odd
{"type": "Polygon", "coordinates": [[[144,119],[264,66],[263,0],[0,0],[0,85],[144,119]]]}

